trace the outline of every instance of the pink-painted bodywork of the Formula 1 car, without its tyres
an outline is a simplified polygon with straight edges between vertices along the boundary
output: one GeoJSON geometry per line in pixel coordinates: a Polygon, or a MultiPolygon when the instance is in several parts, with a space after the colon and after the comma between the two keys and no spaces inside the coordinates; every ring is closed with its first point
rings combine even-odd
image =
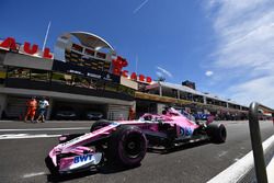
{"type": "MultiPolygon", "coordinates": [[[[81,156],[87,153],[95,153],[92,149],[84,147],[84,145],[95,141],[104,135],[109,135],[112,131],[116,130],[116,127],[119,125],[134,125],[138,126],[144,130],[159,131],[159,123],[170,124],[171,126],[176,126],[176,135],[180,136],[182,128],[187,128],[192,133],[194,129],[199,126],[185,117],[183,114],[179,113],[174,108],[169,108],[167,114],[157,115],[157,114],[144,114],[138,121],[118,121],[112,123],[109,126],[102,127],[92,133],[84,134],[80,137],[71,139],[70,141],[57,145],[50,152],[49,157],[52,158],[54,164],[57,167],[57,155],[59,153],[75,153],[76,156],[81,156]]],[[[208,122],[210,123],[210,122],[208,122]]],[[[192,134],[191,134],[192,135],[192,134]]],[[[73,164],[73,157],[61,158],[59,165],[59,171],[66,171],[73,164]]]]}

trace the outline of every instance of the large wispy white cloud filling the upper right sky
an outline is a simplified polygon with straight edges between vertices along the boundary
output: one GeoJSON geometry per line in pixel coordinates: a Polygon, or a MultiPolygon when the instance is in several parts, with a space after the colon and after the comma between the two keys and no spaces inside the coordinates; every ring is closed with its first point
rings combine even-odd
{"type": "Polygon", "coordinates": [[[212,67],[226,95],[274,107],[274,1],[210,0],[206,5],[217,38],[212,67]]]}

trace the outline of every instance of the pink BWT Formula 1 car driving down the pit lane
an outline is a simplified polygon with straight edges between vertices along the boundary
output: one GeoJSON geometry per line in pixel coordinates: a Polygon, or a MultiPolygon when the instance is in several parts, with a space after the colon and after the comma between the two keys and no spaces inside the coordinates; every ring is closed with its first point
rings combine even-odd
{"type": "Polygon", "coordinates": [[[145,114],[138,121],[99,121],[88,134],[59,137],[46,165],[52,174],[89,170],[105,161],[134,167],[144,159],[148,147],[170,149],[204,139],[225,142],[225,126],[212,121],[198,123],[172,107],[167,107],[162,115],[145,114]]]}

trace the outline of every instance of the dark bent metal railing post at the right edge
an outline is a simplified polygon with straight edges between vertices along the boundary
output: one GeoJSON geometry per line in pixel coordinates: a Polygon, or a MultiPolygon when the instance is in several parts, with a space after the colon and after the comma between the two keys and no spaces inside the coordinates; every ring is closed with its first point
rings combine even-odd
{"type": "Polygon", "coordinates": [[[266,167],[264,161],[261,131],[259,126],[259,116],[260,116],[259,110],[272,113],[272,117],[274,116],[274,110],[256,102],[252,102],[249,107],[249,128],[250,128],[251,145],[253,149],[256,181],[260,183],[267,183],[266,167]]]}

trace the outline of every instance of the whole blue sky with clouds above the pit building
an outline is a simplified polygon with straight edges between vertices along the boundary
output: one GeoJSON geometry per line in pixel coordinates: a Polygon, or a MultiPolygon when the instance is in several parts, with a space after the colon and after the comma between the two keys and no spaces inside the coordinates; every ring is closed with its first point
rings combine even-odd
{"type": "Polygon", "coordinates": [[[1,0],[0,37],[42,47],[52,21],[52,49],[65,32],[91,32],[127,58],[128,70],[135,70],[138,57],[137,71],[153,79],[187,79],[201,91],[274,106],[266,98],[274,93],[273,3],[252,1],[1,0]]]}

